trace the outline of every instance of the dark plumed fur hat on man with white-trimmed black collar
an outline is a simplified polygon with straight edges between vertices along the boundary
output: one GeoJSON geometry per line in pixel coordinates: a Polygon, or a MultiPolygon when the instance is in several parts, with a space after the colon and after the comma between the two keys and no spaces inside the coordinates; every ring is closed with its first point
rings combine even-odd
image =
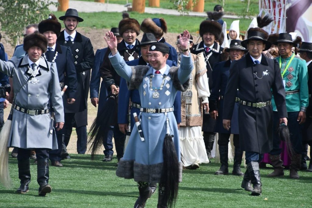
{"type": "Polygon", "coordinates": [[[204,20],[199,26],[199,35],[202,37],[204,33],[210,32],[215,35],[216,39],[219,39],[222,33],[222,25],[217,22],[221,19],[223,12],[207,12],[209,20],[204,20]]]}

